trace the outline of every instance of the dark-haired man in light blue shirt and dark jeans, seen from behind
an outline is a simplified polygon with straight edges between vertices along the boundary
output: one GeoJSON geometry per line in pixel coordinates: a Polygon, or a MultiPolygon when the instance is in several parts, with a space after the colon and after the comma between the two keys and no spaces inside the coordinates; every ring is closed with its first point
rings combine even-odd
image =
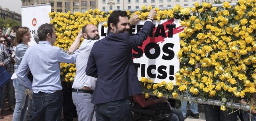
{"type": "Polygon", "coordinates": [[[68,55],[59,47],[54,26],[43,24],[37,30],[39,43],[27,49],[18,68],[17,77],[25,87],[33,90],[32,119],[59,121],[62,112],[62,85],[60,63],[75,63],[76,54],[68,55]],[[33,75],[33,83],[27,78],[27,70],[33,75]]]}

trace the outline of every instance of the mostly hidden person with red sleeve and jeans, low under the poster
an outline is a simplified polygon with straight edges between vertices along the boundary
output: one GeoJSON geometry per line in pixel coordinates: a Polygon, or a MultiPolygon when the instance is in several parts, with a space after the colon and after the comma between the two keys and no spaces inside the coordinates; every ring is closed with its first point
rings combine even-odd
{"type": "MultiPolygon", "coordinates": [[[[153,99],[153,100],[146,100],[144,97],[144,94],[137,94],[137,95],[133,95],[132,99],[135,103],[139,104],[142,108],[148,108],[151,105],[155,105],[157,103],[164,103],[167,102],[166,98],[158,98],[158,99],[153,99]]],[[[171,117],[165,118],[165,120],[167,121],[184,121],[183,119],[183,115],[181,110],[178,110],[176,108],[171,108],[171,117]]]]}

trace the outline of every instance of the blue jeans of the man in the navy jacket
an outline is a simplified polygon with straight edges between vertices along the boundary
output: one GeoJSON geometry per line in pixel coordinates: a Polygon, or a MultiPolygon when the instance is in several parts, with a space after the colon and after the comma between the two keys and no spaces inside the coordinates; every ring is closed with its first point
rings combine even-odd
{"type": "Polygon", "coordinates": [[[130,121],[130,107],[131,103],[128,98],[95,104],[96,121],[130,121]]]}

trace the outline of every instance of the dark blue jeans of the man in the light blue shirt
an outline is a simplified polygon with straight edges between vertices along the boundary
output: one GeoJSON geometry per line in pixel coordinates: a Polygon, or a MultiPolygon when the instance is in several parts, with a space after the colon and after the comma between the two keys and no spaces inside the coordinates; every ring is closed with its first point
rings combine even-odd
{"type": "Polygon", "coordinates": [[[33,93],[32,97],[32,118],[30,121],[60,121],[63,105],[62,91],[51,94],[44,92],[33,93]]]}

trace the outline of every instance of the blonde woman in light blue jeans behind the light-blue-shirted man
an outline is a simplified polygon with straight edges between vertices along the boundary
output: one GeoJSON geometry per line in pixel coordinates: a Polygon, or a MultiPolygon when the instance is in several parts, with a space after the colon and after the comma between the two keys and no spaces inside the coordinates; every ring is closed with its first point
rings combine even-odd
{"type": "MultiPolygon", "coordinates": [[[[17,72],[18,67],[21,63],[21,60],[28,49],[30,42],[30,29],[27,27],[20,27],[16,33],[15,37],[15,55],[16,55],[16,65],[15,71],[17,72]]],[[[16,73],[15,73],[16,74],[16,73]]],[[[27,104],[28,104],[28,96],[25,94],[26,87],[20,84],[18,78],[15,78],[14,81],[14,90],[16,97],[16,105],[13,114],[13,121],[23,121],[26,112],[27,112],[27,104]]]]}

